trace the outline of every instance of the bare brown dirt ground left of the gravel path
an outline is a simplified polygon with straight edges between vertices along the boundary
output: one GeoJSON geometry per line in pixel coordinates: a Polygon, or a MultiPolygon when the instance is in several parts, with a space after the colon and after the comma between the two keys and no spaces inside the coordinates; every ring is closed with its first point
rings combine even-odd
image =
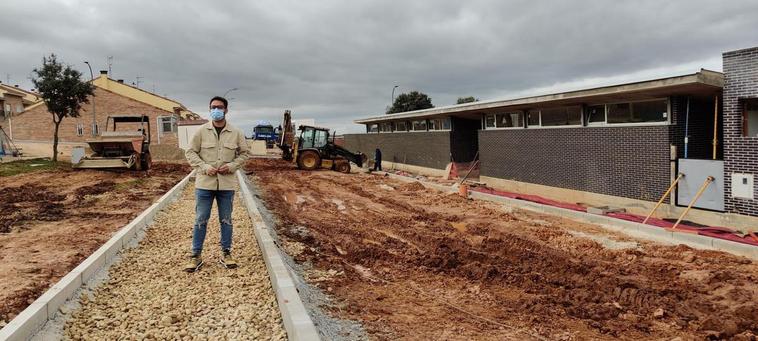
{"type": "Polygon", "coordinates": [[[62,168],[0,177],[0,323],[189,171],[185,165],[155,164],[148,174],[62,168]]]}

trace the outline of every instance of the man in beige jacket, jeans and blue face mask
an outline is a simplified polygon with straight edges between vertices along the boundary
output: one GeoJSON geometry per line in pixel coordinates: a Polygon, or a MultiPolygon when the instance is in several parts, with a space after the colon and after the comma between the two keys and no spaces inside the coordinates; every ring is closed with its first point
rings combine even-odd
{"type": "Polygon", "coordinates": [[[241,130],[226,121],[229,103],[223,97],[210,101],[211,121],[202,125],[192,136],[185,152],[195,172],[195,226],[192,229],[192,254],[184,270],[194,272],[203,265],[201,253],[213,200],[218,206],[221,224],[221,264],[237,267],[232,258],[232,202],[237,181],[234,172],[250,157],[241,130]]]}

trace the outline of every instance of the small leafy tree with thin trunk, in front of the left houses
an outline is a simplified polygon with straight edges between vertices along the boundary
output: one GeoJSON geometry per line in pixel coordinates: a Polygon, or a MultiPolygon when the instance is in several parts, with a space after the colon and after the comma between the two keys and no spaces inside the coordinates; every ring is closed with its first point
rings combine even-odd
{"type": "Polygon", "coordinates": [[[94,96],[95,86],[81,80],[82,73],[58,62],[55,54],[42,57],[42,67],[34,69],[32,82],[47,111],[53,115],[53,161],[58,161],[58,128],[63,118],[79,117],[82,104],[89,103],[88,96],[94,96]]]}

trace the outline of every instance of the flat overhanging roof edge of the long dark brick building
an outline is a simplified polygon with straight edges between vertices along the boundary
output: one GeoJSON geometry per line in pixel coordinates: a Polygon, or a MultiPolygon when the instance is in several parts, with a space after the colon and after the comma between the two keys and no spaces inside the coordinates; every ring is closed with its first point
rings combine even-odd
{"type": "Polygon", "coordinates": [[[692,74],[653,79],[634,83],[603,86],[548,95],[515,99],[490,100],[450,105],[424,110],[385,114],[355,120],[358,124],[386,122],[397,119],[421,119],[440,116],[480,115],[494,109],[520,110],[535,106],[571,105],[580,103],[603,103],[613,101],[660,98],[677,94],[710,95],[724,87],[724,74],[701,69],[692,74]]]}

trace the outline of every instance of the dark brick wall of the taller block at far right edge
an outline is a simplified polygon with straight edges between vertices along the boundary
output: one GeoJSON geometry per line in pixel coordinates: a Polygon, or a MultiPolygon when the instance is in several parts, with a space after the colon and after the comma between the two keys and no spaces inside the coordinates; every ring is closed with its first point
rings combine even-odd
{"type": "MultiPolygon", "coordinates": [[[[741,101],[758,98],[758,47],[725,52],[723,59],[725,208],[731,213],[758,216],[758,200],[732,198],[731,191],[732,173],[758,176],[758,138],[743,136],[741,101]]],[[[758,198],[758,193],[753,196],[758,198]]]]}

